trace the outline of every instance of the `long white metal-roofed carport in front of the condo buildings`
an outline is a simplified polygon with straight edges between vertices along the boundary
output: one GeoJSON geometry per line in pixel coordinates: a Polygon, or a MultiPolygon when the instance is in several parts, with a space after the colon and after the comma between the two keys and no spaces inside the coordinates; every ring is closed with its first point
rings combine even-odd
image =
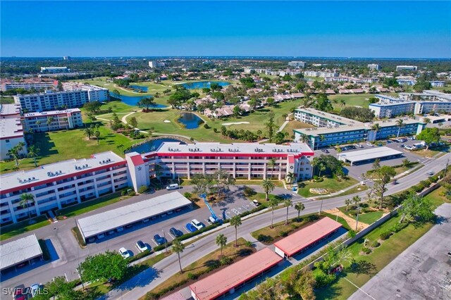
{"type": "Polygon", "coordinates": [[[78,219],[77,226],[86,242],[89,237],[187,206],[192,206],[190,200],[179,192],[172,192],[97,215],[89,215],[78,219]]]}

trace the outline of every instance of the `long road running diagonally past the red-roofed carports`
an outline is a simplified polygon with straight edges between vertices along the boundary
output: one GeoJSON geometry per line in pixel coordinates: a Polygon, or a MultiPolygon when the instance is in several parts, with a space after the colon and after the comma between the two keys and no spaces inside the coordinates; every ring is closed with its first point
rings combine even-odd
{"type": "MultiPolygon", "coordinates": [[[[424,171],[431,170],[434,173],[442,170],[447,162],[447,159],[451,157],[451,154],[445,154],[434,161],[428,161],[426,163],[427,168],[421,168],[418,172],[402,177],[398,180],[398,185],[389,185],[388,192],[386,194],[394,194],[400,192],[404,189],[408,189],[412,185],[416,185],[421,180],[425,180],[428,175],[424,171]]],[[[359,196],[364,197],[365,192],[358,193],[359,196]]],[[[352,195],[354,196],[354,195],[352,195]]],[[[335,197],[333,199],[324,200],[322,203],[322,209],[327,210],[339,206],[345,205],[345,199],[349,199],[350,195],[335,197]]],[[[321,206],[321,201],[312,201],[309,199],[300,200],[304,203],[305,210],[302,214],[314,213],[319,211],[321,206]]],[[[278,209],[274,212],[274,222],[278,222],[285,219],[285,209],[278,209]]],[[[289,218],[294,218],[297,215],[295,209],[291,209],[289,212],[289,218]]],[[[242,225],[238,228],[238,237],[249,237],[249,232],[253,232],[261,227],[271,225],[271,213],[264,213],[257,215],[254,218],[249,218],[242,222],[242,225]]],[[[226,227],[221,230],[223,235],[226,235],[228,240],[235,239],[235,228],[226,227]]],[[[215,244],[216,234],[208,235],[203,239],[194,243],[194,246],[188,246],[183,254],[180,255],[183,264],[187,262],[197,261],[211,251],[217,249],[215,244]]],[[[251,241],[253,242],[253,241],[251,241]]],[[[153,268],[145,270],[143,273],[133,277],[128,282],[125,282],[121,287],[114,289],[113,291],[106,294],[102,299],[139,299],[144,296],[147,292],[154,289],[154,287],[160,285],[162,282],[167,280],[173,274],[179,271],[178,258],[175,255],[168,256],[164,258],[159,263],[156,263],[153,268]]]]}

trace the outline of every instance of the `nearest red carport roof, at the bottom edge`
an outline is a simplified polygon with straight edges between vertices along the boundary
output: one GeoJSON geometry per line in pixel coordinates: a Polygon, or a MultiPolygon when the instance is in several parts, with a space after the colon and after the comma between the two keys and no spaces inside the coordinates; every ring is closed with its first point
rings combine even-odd
{"type": "Polygon", "coordinates": [[[268,270],[282,260],[283,258],[271,251],[271,249],[265,248],[247,256],[247,258],[243,258],[237,263],[233,263],[233,265],[229,265],[227,268],[219,270],[209,277],[195,282],[190,285],[190,289],[199,300],[215,299],[230,289],[259,275],[264,270],[268,270]]]}

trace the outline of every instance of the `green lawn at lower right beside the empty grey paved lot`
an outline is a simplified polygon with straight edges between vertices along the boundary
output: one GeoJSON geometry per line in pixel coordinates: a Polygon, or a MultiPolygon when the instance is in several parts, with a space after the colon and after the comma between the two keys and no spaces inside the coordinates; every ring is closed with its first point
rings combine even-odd
{"type": "MultiPolygon", "coordinates": [[[[353,282],[358,287],[362,287],[368,280],[371,279],[374,275],[376,275],[380,270],[382,270],[385,265],[388,265],[390,261],[393,261],[402,251],[407,249],[408,246],[413,244],[417,239],[419,239],[422,235],[424,235],[433,224],[426,224],[423,227],[415,227],[414,225],[408,225],[400,232],[395,233],[389,239],[382,242],[381,246],[373,249],[371,254],[362,255],[360,251],[364,246],[364,239],[369,240],[367,245],[371,245],[371,242],[377,241],[382,232],[387,231],[390,227],[395,225],[395,223],[399,223],[400,216],[396,216],[383,223],[383,225],[377,227],[375,230],[371,231],[365,237],[357,240],[351,246],[349,246],[350,253],[352,254],[352,258],[356,261],[366,261],[366,264],[369,265],[370,273],[343,273],[348,280],[353,282]]],[[[345,268],[348,267],[350,263],[345,263],[345,268]]],[[[356,287],[350,285],[342,277],[330,285],[329,287],[324,287],[322,289],[315,290],[317,299],[347,299],[350,297],[355,291],[356,287]]]]}

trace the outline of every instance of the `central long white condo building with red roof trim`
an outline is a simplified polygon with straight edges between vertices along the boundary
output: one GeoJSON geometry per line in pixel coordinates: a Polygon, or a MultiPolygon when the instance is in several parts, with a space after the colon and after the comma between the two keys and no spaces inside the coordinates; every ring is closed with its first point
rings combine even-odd
{"type": "Polygon", "coordinates": [[[190,179],[196,174],[211,174],[221,169],[235,178],[268,178],[283,180],[288,173],[295,180],[311,177],[309,158],[314,156],[306,144],[181,144],[165,142],[156,151],[143,154],[149,163],[151,175],[154,165],[162,167],[163,176],[190,179]],[[275,159],[275,165],[271,165],[275,159]]]}

